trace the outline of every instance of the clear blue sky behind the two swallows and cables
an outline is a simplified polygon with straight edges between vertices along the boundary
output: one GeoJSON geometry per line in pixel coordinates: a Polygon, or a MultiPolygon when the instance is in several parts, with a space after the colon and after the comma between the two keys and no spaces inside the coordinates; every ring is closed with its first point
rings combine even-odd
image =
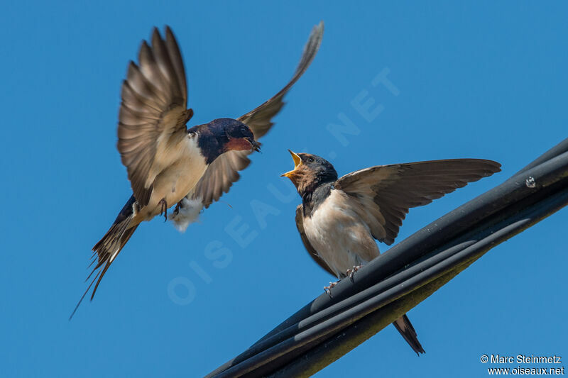
{"type": "MultiPolygon", "coordinates": [[[[568,136],[568,7],[559,2],[117,3],[12,1],[0,13],[4,377],[200,376],[322,293],[330,277],[305,252],[300,198],[279,177],[293,165],[287,148],[328,157],[339,174],[453,157],[503,164],[410,211],[400,241],[568,136]],[[168,24],[178,37],[196,124],[275,94],[320,20],[320,53],[263,154],[185,234],[160,219],[138,228],[95,300],[67,321],[92,245],[131,194],[115,148],[119,89],[151,28],[168,24]],[[384,70],[395,91],[373,86],[384,70]],[[364,118],[357,96],[381,111],[364,118]],[[341,114],[358,135],[329,133],[341,114]],[[230,230],[241,227],[249,240],[239,243],[230,230]]],[[[564,209],[410,311],[425,355],[389,326],[318,377],[480,377],[482,354],[568,359],[567,224],[564,209]]]]}

